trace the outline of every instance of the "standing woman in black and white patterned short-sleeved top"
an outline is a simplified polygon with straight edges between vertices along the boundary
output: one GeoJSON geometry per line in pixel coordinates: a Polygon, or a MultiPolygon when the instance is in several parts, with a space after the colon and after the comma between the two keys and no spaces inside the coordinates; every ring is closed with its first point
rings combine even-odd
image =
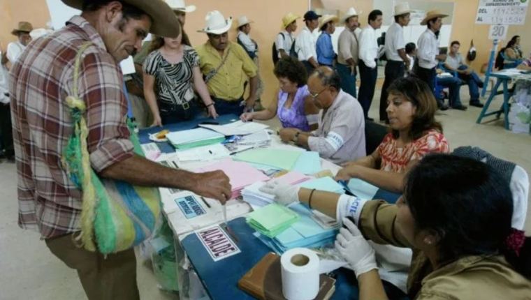
{"type": "Polygon", "coordinates": [[[177,38],[156,37],[144,61],[144,96],[150,105],[152,126],[194,119],[198,107],[194,88],[203,99],[210,117],[217,117],[194,48],[177,38]]]}

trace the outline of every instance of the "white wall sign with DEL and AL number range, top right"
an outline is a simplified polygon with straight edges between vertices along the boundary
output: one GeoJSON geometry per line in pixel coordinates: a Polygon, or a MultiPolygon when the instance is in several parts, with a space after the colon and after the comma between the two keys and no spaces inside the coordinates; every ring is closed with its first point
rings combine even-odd
{"type": "Polygon", "coordinates": [[[531,0],[479,0],[476,24],[523,25],[531,0]]]}

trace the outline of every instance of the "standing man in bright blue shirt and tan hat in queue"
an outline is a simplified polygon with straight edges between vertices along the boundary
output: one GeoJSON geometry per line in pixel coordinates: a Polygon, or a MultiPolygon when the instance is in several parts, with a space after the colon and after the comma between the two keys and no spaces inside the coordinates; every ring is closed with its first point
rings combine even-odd
{"type": "Polygon", "coordinates": [[[336,54],[332,45],[332,34],[335,31],[335,23],[339,18],[335,15],[323,15],[321,17],[321,36],[317,38],[317,62],[321,66],[333,66],[336,54]]]}

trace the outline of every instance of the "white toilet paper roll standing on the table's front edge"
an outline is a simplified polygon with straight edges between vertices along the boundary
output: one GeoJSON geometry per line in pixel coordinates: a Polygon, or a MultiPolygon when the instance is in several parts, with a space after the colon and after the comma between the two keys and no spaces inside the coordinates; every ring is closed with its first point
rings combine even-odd
{"type": "Polygon", "coordinates": [[[280,257],[282,293],[288,300],[311,300],[319,293],[319,257],[307,248],[293,248],[280,257]]]}

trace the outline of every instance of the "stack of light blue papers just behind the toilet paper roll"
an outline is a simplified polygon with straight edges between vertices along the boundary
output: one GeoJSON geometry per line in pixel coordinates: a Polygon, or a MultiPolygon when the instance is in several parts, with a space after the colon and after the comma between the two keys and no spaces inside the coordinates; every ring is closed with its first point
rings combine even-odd
{"type": "Polygon", "coordinates": [[[333,244],[338,232],[337,227],[321,227],[312,218],[312,211],[304,204],[292,205],[289,208],[296,211],[300,219],[273,239],[258,235],[263,243],[279,254],[291,248],[320,248],[333,244]]]}

